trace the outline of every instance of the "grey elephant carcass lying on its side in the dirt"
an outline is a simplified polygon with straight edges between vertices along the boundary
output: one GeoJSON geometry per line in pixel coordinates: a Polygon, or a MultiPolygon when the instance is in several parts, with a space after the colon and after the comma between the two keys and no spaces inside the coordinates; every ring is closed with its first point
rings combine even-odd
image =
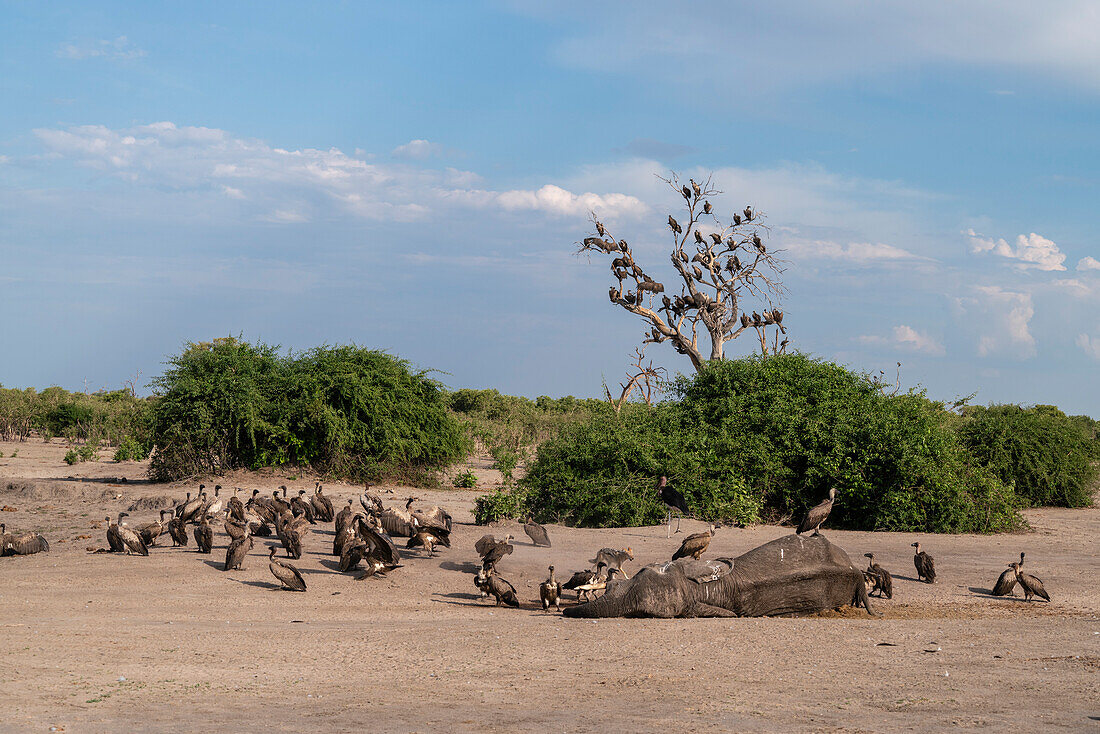
{"type": "Polygon", "coordinates": [[[565,616],[774,616],[846,604],[871,613],[864,574],[824,536],[789,535],[733,560],[647,566],[565,616]]]}

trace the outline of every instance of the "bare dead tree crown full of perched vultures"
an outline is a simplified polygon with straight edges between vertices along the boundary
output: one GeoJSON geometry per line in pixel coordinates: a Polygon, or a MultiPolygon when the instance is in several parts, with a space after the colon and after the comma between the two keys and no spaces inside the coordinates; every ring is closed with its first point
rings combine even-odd
{"type": "Polygon", "coordinates": [[[610,270],[617,285],[608,291],[610,302],[648,321],[644,344],[671,341],[696,370],[725,359],[726,343],[749,329],[759,339],[761,354],[787,351],[783,311],[777,307],[785,293],[780,281],[783,261],[765,242],[768,228],[762,215],[746,207],[724,223],[713,213],[710,199],[722,191],[710,177],[703,184],[689,179],[690,186],[674,174],[661,180],[683,196],[686,209],[683,221],[669,215],[670,259],[683,282],[680,295],[662,295],[664,284],[650,277],[626,240],[616,239],[593,215],[596,231],[584,239],[579,252],[613,256],[610,270]],[[758,302],[762,313],[749,314],[743,304],[746,298],[758,302]],[[770,342],[769,328],[773,329],[770,342]],[[710,337],[708,355],[700,343],[703,333],[710,337]]]}

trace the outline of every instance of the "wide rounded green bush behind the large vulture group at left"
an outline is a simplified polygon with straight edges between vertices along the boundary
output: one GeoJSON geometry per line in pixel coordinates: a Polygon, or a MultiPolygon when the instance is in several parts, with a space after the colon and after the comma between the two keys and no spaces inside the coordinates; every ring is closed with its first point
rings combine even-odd
{"type": "Polygon", "coordinates": [[[426,483],[470,449],[435,381],[359,347],[280,357],[233,338],[193,343],[155,385],[150,471],[162,481],[309,465],[426,483]]]}

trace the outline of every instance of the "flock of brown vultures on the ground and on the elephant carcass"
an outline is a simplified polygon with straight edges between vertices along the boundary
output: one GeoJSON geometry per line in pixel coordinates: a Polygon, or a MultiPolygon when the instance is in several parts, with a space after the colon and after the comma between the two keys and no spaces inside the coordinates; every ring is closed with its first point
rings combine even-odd
{"type": "MultiPolygon", "coordinates": [[[[336,512],[332,501],[324,494],[320,483],[317,483],[311,496],[307,496],[305,490],[299,490],[297,495],[289,496],[286,486],[280,486],[271,496],[262,496],[260,490],[253,490],[252,496],[243,502],[238,496],[240,492],[238,489],[224,503],[220,485],[215,486],[212,496],[207,494],[205,485],[199,485],[197,496],[191,497],[191,493],[188,492],[187,497],[174,508],[162,510],[156,522],[131,527],[124,519],[129,516],[127,512],[119,513],[113,521],[107,517],[108,547],[89,548],[89,550],[148,556],[150,548],[155,547],[164,535],[172,538],[173,547],[187,546],[189,541],[187,530],[190,525],[193,526],[190,537],[194,537],[199,552],[210,554],[213,549],[211,521],[221,521],[230,537],[223,569],[243,570],[245,557],[253,548],[253,538],[274,535],[286,551],[286,557],[296,560],[301,558],[302,539],[310,526],[317,523],[333,523],[336,535],[332,541],[332,555],[340,559],[339,570],[355,571],[355,578],[362,580],[375,574],[383,576],[400,566],[402,554],[394,543],[395,537],[407,538],[406,550],[419,549],[429,557],[435,556],[438,547],[451,547],[451,515],[446,510],[438,506],[414,508],[413,504],[417,497],[408,497],[404,507],[387,507],[378,495],[371,493],[370,489],[367,485],[366,491],[359,496],[360,508],[354,506],[355,499],[352,497],[340,512],[336,512]],[[282,496],[279,491],[283,493],[282,496]]],[[[676,533],[679,533],[680,518],[690,514],[690,508],[684,496],[669,485],[667,478],[660,479],[657,489],[661,502],[668,508],[668,537],[671,537],[672,514],[679,515],[676,521],[676,533]]],[[[813,530],[814,535],[818,535],[821,526],[833,510],[835,497],[836,491],[829,490],[828,497],[806,513],[796,534],[813,530]]],[[[543,526],[528,519],[524,530],[535,546],[551,547],[550,536],[543,526]]],[[[700,559],[710,547],[714,534],[715,526],[711,525],[703,533],[689,535],[672,555],[672,560],[700,559]]],[[[481,591],[483,599],[495,598],[497,606],[502,604],[519,606],[515,587],[497,571],[497,565],[513,551],[512,540],[514,540],[512,535],[501,539],[486,535],[474,544],[474,549],[482,560],[481,568],[474,577],[474,584],[481,591]]],[[[915,548],[913,565],[916,568],[917,580],[934,583],[935,560],[921,550],[920,543],[914,543],[913,547],[915,548]]],[[[277,548],[274,543],[270,547],[268,568],[272,576],[285,589],[306,591],[306,580],[301,572],[288,560],[276,558],[277,548]]],[[[0,523],[0,555],[24,556],[48,550],[50,544],[41,535],[8,534],[7,527],[0,523]]],[[[892,599],[893,576],[875,561],[875,554],[865,556],[868,558],[868,567],[864,571],[864,580],[868,592],[892,599]]],[[[550,566],[549,578],[539,585],[542,609],[544,611],[551,606],[560,609],[564,591],[573,591],[579,602],[593,599],[618,577],[628,579],[629,576],[623,570],[623,565],[631,560],[634,560],[631,548],[620,550],[603,548],[591,560],[595,568],[574,572],[564,583],[557,579],[554,567],[550,566]]],[[[1026,601],[1031,601],[1033,596],[1050,601],[1043,582],[1025,573],[1022,570],[1023,563],[1024,554],[1021,552],[1020,561],[1011,563],[1001,573],[991,593],[996,596],[1014,594],[1019,583],[1026,601]]]]}

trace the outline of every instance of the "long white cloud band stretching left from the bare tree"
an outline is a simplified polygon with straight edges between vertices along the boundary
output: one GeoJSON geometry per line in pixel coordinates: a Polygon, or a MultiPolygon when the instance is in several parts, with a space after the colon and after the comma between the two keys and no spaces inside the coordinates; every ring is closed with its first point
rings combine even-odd
{"type": "Polygon", "coordinates": [[[476,173],[453,167],[380,164],[338,149],[285,150],[224,130],[172,122],[121,130],[40,129],[35,135],[47,160],[96,168],[138,186],[211,190],[248,200],[252,215],[265,221],[300,222],[327,212],[410,221],[455,207],[576,218],[594,209],[609,219],[646,210],[641,200],[625,194],[574,194],[552,184],[497,191],[483,188],[476,173]]]}

